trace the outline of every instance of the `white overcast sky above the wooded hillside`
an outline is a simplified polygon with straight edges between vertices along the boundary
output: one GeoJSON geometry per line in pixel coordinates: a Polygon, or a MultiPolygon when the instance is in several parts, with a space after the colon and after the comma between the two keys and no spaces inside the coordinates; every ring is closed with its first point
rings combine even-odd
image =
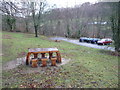
{"type": "Polygon", "coordinates": [[[97,0],[47,0],[47,2],[51,5],[56,4],[57,7],[73,7],[84,2],[95,3],[97,0]]]}

